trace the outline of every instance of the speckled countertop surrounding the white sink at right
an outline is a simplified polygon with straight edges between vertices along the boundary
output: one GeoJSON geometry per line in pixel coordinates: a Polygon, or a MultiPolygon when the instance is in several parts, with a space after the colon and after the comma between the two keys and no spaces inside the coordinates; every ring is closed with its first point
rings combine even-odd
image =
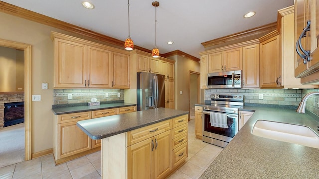
{"type": "Polygon", "coordinates": [[[200,179],[318,179],[319,149],[251,134],[259,119],[300,124],[319,134],[318,118],[294,109],[244,107],[255,111],[200,179]]]}

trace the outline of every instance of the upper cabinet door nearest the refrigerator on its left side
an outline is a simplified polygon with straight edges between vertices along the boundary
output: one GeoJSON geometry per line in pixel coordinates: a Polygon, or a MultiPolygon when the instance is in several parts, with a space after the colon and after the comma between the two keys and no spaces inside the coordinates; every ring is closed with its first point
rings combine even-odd
{"type": "Polygon", "coordinates": [[[112,88],[130,88],[130,56],[112,52],[112,88]]]}

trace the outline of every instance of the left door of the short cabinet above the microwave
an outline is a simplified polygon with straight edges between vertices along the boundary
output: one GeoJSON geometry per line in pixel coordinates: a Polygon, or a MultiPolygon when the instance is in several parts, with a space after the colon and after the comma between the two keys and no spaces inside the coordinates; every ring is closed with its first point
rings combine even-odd
{"type": "Polygon", "coordinates": [[[224,71],[224,52],[208,55],[208,73],[224,71]]]}

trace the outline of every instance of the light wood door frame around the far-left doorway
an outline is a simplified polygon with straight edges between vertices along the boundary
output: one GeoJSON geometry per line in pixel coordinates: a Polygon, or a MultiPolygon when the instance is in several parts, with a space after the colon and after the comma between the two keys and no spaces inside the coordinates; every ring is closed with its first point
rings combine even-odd
{"type": "Polygon", "coordinates": [[[0,46],[24,50],[24,160],[31,160],[31,45],[0,39],[0,46]]]}

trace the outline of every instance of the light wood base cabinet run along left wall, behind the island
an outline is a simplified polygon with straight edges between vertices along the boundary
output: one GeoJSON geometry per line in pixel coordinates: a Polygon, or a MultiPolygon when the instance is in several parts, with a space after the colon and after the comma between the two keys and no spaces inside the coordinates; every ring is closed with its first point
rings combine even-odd
{"type": "Polygon", "coordinates": [[[86,135],[76,125],[78,121],[134,111],[136,111],[136,106],[55,115],[55,124],[53,125],[55,163],[67,162],[100,150],[101,140],[93,140],[86,135]]]}

